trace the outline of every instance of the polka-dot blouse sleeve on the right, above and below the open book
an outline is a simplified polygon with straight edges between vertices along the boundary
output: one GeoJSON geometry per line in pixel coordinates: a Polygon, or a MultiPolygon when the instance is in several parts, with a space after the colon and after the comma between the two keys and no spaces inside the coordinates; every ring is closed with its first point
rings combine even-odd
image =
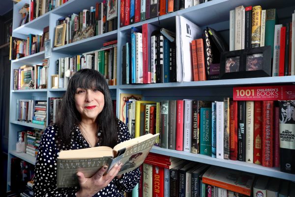
{"type": "MultiPolygon", "coordinates": [[[[131,137],[127,129],[127,126],[121,121],[118,122],[118,126],[119,126],[119,131],[118,131],[119,142],[123,142],[130,139],[131,137]]],[[[122,192],[131,192],[133,188],[136,186],[136,184],[139,182],[140,176],[141,176],[141,172],[139,170],[139,167],[137,167],[130,172],[124,173],[120,179],[117,179],[115,177],[114,181],[122,192]]]]}

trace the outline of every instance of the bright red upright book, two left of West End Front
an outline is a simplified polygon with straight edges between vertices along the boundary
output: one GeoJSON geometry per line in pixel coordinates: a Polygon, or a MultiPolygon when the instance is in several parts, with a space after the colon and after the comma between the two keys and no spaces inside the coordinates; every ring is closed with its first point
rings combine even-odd
{"type": "Polygon", "coordinates": [[[183,100],[176,101],[176,150],[183,151],[183,100]]]}

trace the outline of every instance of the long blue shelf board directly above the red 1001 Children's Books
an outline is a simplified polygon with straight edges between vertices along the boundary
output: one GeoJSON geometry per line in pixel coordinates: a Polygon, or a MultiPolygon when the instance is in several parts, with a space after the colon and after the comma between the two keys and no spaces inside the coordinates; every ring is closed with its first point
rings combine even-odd
{"type": "Polygon", "coordinates": [[[250,86],[263,84],[295,84],[295,76],[282,77],[258,77],[245,79],[222,79],[222,80],[207,80],[207,81],[190,81],[176,83],[154,83],[154,84],[128,84],[119,85],[120,89],[181,89],[206,86],[250,86]]]}

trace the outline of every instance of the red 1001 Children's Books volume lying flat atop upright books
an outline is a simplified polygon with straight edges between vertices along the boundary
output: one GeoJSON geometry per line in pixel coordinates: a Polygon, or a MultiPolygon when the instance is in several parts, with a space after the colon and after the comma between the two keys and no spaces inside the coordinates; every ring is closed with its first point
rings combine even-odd
{"type": "Polygon", "coordinates": [[[234,100],[294,100],[295,85],[234,87],[234,100]]]}

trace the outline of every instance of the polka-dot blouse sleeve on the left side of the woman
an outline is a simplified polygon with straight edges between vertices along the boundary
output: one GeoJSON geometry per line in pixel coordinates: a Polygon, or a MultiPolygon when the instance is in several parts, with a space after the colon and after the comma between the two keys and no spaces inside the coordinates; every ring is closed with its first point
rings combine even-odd
{"type": "Polygon", "coordinates": [[[34,197],[75,197],[78,188],[57,188],[56,135],[58,129],[47,127],[42,135],[35,164],[34,197]]]}

